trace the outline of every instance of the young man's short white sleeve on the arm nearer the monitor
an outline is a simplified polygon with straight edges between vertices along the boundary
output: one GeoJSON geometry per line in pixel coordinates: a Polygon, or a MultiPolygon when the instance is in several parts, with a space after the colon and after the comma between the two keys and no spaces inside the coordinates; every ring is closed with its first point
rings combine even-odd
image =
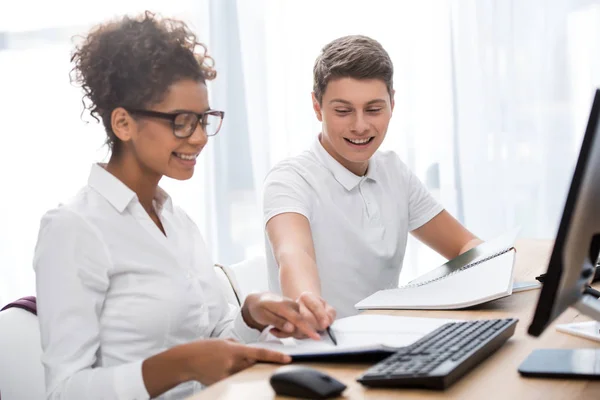
{"type": "Polygon", "coordinates": [[[425,185],[407,168],[408,173],[408,230],[413,231],[444,210],[425,185]]]}

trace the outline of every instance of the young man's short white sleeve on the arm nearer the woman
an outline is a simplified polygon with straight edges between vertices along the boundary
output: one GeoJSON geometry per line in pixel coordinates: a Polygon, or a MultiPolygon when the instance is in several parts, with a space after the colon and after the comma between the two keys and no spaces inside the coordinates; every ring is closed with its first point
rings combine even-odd
{"type": "Polygon", "coordinates": [[[263,187],[263,221],[279,214],[298,213],[311,220],[311,187],[302,175],[283,164],[273,168],[263,187]]]}

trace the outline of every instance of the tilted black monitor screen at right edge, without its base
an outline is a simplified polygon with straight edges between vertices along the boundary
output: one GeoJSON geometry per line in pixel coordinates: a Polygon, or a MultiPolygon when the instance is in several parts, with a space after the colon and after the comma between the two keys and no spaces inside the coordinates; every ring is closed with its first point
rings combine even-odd
{"type": "Polygon", "coordinates": [[[600,239],[600,90],[579,158],[529,334],[539,336],[567,308],[600,321],[600,300],[584,291],[594,278],[600,239]]]}

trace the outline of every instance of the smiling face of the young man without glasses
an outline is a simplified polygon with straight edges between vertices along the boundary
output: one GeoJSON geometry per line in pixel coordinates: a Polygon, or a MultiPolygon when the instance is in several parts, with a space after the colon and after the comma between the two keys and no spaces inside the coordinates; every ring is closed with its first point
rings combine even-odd
{"type": "Polygon", "coordinates": [[[380,79],[337,78],[329,81],[313,108],[322,123],[321,144],[340,164],[362,176],[377,151],[392,117],[394,100],[380,79]]]}

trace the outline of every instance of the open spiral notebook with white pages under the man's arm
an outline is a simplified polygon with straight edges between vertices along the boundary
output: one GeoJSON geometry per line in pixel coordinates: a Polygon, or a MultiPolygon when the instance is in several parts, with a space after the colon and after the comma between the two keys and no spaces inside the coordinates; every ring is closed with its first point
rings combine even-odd
{"type": "Polygon", "coordinates": [[[405,286],[380,290],[358,302],[367,309],[453,310],[512,294],[514,229],[459,255],[405,286]]]}

